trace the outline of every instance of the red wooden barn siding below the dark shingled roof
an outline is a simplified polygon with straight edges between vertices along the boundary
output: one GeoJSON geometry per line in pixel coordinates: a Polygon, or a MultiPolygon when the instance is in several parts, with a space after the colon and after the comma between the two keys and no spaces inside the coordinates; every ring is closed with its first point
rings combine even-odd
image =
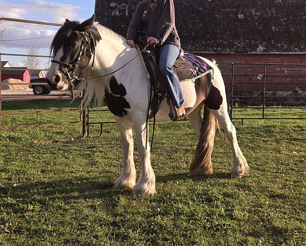
{"type": "MultiPolygon", "coordinates": [[[[228,64],[246,63],[246,64],[305,64],[306,54],[212,54],[212,53],[197,53],[197,55],[215,59],[221,72],[224,74],[231,73],[228,64]]],[[[236,76],[235,84],[252,84],[261,86],[263,80],[258,80],[258,74],[264,74],[264,66],[262,65],[236,65],[235,73],[253,74],[253,76],[236,76]]],[[[271,90],[294,90],[295,87],[306,89],[306,77],[292,77],[306,75],[306,66],[268,66],[267,74],[277,75],[267,77],[266,83],[271,90]]],[[[232,77],[224,75],[224,82],[226,87],[231,84],[232,77]]],[[[254,88],[254,87],[253,87],[254,88]]],[[[248,88],[250,89],[250,88],[248,88]]]]}

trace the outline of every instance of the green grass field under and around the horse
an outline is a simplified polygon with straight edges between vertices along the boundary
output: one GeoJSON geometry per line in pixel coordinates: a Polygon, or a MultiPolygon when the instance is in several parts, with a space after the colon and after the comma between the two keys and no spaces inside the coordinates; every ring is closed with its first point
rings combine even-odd
{"type": "MultiPolygon", "coordinates": [[[[66,101],[3,104],[4,112],[58,109],[66,101]]],[[[260,110],[258,110],[260,115],[260,110]]],[[[238,112],[255,115],[257,111],[238,112]]],[[[273,109],[273,116],[304,115],[273,109]]],[[[92,114],[92,121],[112,119],[92,114]]],[[[78,112],[4,115],[3,127],[75,121],[78,112]]],[[[115,125],[0,132],[1,245],[305,245],[306,120],[235,121],[251,167],[231,178],[231,148],[217,134],[214,174],[188,178],[196,139],[188,122],[159,123],[152,166],[157,194],[113,190],[122,150],[115,125]],[[39,141],[71,139],[38,144],[39,141]]],[[[137,147],[135,164],[140,169],[137,147]]]]}

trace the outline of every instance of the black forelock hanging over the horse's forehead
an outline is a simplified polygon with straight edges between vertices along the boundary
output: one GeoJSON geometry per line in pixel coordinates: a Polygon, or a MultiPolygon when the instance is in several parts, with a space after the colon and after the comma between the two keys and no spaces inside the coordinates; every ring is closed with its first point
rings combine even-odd
{"type": "Polygon", "coordinates": [[[56,33],[50,47],[50,55],[54,54],[61,48],[65,40],[70,36],[74,28],[79,25],[79,21],[70,21],[64,24],[56,33]]]}

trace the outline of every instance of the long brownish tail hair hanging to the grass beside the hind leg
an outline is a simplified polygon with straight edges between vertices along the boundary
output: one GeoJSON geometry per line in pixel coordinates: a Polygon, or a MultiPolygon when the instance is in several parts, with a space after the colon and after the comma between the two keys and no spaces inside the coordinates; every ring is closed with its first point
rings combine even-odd
{"type": "Polygon", "coordinates": [[[212,151],[219,123],[211,110],[205,106],[201,134],[196,147],[188,176],[201,176],[213,173],[212,151]]]}

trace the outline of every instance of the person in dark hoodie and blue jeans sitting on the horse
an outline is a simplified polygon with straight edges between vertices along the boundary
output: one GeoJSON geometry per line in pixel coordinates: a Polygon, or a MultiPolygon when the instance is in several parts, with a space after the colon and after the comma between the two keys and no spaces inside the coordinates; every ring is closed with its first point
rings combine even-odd
{"type": "Polygon", "coordinates": [[[146,30],[147,44],[157,45],[160,55],[159,66],[163,73],[171,98],[179,117],[186,114],[180,80],[173,71],[173,64],[180,54],[180,38],[175,27],[173,0],[146,0],[141,2],[134,13],[127,30],[126,42],[135,46],[139,31],[146,30]]]}

